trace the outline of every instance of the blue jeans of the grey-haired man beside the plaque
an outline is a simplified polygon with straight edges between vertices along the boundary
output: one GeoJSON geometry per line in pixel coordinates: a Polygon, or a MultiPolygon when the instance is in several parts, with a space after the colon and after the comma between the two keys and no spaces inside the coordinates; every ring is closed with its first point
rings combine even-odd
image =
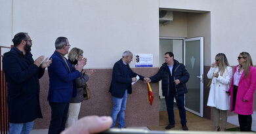
{"type": "Polygon", "coordinates": [[[126,101],[127,101],[127,90],[125,91],[125,95],[123,98],[113,97],[113,110],[111,113],[111,117],[113,119],[112,128],[116,125],[116,118],[118,122],[118,127],[123,128],[125,127],[125,108],[126,108],[126,101]]]}

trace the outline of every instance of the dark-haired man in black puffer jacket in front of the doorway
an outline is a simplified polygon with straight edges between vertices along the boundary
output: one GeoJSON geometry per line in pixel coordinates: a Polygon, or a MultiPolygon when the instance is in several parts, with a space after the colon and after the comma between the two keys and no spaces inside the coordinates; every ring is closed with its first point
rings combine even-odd
{"type": "Polygon", "coordinates": [[[172,52],[165,53],[165,63],[160,67],[158,73],[150,78],[144,78],[147,82],[161,81],[161,89],[168,112],[169,125],[165,129],[175,127],[173,101],[174,98],[179,108],[181,125],[183,130],[188,130],[186,126],[186,110],[184,108],[184,94],[188,92],[186,82],[189,79],[189,73],[185,66],[174,59],[172,52]]]}

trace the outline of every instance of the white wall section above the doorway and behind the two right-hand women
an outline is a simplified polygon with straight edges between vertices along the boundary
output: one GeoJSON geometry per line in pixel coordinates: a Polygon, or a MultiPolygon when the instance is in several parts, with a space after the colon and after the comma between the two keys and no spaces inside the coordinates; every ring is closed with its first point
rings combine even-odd
{"type": "Polygon", "coordinates": [[[211,62],[219,52],[226,54],[230,65],[237,65],[240,52],[251,54],[256,62],[256,1],[233,0],[160,0],[160,8],[205,10],[211,12],[211,62]]]}

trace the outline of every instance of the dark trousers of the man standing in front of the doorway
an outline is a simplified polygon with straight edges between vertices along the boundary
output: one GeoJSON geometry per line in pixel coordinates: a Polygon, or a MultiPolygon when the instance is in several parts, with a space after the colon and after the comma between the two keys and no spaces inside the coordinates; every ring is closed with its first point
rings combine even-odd
{"type": "Polygon", "coordinates": [[[167,107],[167,112],[168,112],[169,123],[172,125],[175,125],[175,118],[174,118],[174,112],[173,112],[174,98],[176,99],[177,107],[179,109],[181,125],[184,126],[184,125],[186,125],[186,110],[184,107],[184,95],[179,95],[179,96],[169,95],[168,97],[165,96],[165,102],[166,102],[166,107],[167,107]]]}

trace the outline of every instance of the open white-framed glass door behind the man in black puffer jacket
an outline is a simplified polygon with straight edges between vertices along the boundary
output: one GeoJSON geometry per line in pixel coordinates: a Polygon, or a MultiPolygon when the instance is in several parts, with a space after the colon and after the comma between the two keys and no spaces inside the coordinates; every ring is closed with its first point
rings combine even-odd
{"type": "Polygon", "coordinates": [[[184,65],[190,74],[186,83],[186,110],[203,117],[203,37],[184,39],[184,65]]]}

